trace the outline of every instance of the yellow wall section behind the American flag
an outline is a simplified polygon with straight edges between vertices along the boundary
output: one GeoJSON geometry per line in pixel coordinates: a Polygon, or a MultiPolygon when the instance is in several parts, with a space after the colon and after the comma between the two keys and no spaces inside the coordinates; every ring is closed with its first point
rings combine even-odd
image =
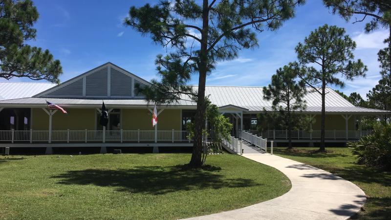
{"type": "MultiPolygon", "coordinates": [[[[68,114],[57,111],[52,118],[52,130],[95,130],[95,109],[67,109],[68,114]]],[[[49,116],[42,109],[32,109],[31,128],[48,130],[49,116]]]]}

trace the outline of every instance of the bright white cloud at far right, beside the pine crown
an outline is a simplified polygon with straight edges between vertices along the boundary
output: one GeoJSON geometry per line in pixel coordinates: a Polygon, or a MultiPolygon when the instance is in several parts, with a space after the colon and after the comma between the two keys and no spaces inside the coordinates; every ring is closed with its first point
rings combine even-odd
{"type": "Polygon", "coordinates": [[[357,49],[381,49],[386,47],[384,39],[389,37],[389,32],[385,30],[375,31],[369,34],[361,32],[353,36],[353,41],[357,44],[357,49]]]}

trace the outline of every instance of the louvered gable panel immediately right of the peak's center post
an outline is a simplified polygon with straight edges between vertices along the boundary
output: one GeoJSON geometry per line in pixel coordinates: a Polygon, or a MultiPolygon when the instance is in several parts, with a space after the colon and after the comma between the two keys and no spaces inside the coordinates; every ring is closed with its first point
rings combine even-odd
{"type": "Polygon", "coordinates": [[[131,97],[131,77],[117,69],[110,68],[110,96],[131,97]]]}

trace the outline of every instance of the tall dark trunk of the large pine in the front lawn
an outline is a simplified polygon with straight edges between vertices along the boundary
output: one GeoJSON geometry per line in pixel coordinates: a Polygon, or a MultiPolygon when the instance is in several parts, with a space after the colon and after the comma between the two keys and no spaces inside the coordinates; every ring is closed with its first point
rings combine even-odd
{"type": "Polygon", "coordinates": [[[202,9],[202,33],[201,33],[201,49],[199,60],[199,78],[198,78],[198,94],[197,94],[197,111],[195,113],[195,131],[194,144],[190,166],[199,168],[202,166],[202,129],[205,114],[205,84],[208,65],[208,0],[203,0],[202,9]]]}

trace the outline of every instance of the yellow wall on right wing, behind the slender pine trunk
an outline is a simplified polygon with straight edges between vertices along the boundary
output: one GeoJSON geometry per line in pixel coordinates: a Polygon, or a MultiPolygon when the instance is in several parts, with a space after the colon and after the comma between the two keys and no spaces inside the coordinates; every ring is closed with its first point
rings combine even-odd
{"type": "MultiPolygon", "coordinates": [[[[312,124],[312,130],[320,130],[321,129],[321,115],[315,116],[316,122],[312,124]]],[[[345,131],[345,118],[340,114],[326,114],[326,123],[325,129],[328,131],[337,130],[337,131],[345,131]]],[[[354,127],[354,116],[351,116],[348,120],[348,130],[355,130],[354,127]]]]}

